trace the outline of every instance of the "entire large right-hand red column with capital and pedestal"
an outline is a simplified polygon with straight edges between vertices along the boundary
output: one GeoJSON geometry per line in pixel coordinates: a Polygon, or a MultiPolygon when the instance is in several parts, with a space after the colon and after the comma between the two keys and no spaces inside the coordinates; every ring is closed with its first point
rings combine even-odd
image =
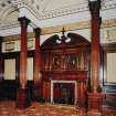
{"type": "Polygon", "coordinates": [[[99,92],[99,18],[101,1],[95,0],[89,2],[89,11],[92,15],[92,48],[91,48],[91,88],[88,93],[88,116],[102,115],[102,93],[99,92]]]}

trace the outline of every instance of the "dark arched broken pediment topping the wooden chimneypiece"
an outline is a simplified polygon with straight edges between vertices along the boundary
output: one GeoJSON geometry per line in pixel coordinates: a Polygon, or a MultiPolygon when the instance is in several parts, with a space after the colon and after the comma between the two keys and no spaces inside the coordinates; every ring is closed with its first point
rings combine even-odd
{"type": "Polygon", "coordinates": [[[64,34],[59,36],[57,34],[49,38],[42,45],[41,49],[66,49],[66,48],[76,48],[76,46],[87,46],[91,43],[80,34],[67,33],[67,36],[64,34]]]}

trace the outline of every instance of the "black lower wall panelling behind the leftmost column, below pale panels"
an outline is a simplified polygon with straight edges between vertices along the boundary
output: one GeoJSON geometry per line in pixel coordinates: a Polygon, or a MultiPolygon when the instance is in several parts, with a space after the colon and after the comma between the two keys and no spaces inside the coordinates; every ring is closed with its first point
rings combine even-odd
{"type": "MultiPolygon", "coordinates": [[[[30,92],[30,98],[33,98],[32,92],[33,81],[28,81],[27,87],[30,92]]],[[[2,80],[0,83],[0,99],[17,99],[17,89],[19,89],[19,82],[15,80],[2,80]]]]}

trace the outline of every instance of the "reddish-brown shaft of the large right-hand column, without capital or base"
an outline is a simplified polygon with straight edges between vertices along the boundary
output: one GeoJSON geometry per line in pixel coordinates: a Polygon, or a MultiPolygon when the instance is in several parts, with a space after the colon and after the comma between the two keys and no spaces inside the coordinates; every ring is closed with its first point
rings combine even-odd
{"type": "Polygon", "coordinates": [[[91,48],[91,68],[92,68],[92,91],[97,92],[99,78],[99,9],[92,11],[92,48],[91,48]]]}

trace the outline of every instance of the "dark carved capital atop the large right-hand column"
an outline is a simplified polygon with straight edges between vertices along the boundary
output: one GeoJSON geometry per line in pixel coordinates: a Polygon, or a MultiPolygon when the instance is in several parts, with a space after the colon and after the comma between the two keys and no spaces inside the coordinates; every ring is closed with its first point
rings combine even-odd
{"type": "Polygon", "coordinates": [[[92,14],[96,14],[101,9],[101,0],[88,0],[88,7],[92,14]]]}

